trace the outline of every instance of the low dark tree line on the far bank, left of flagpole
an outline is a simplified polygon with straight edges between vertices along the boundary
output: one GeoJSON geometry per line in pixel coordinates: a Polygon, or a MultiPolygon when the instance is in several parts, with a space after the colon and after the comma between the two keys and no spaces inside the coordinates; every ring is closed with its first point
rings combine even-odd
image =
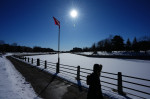
{"type": "Polygon", "coordinates": [[[0,40],[0,52],[54,52],[51,48],[42,48],[35,46],[33,48],[27,46],[19,46],[17,43],[5,44],[0,40]]]}

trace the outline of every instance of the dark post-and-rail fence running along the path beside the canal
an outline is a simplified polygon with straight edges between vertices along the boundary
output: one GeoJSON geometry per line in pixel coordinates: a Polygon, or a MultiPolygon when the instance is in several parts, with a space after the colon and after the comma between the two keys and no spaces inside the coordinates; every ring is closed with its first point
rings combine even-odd
{"type": "MultiPolygon", "coordinates": [[[[91,74],[91,72],[93,71],[91,69],[82,68],[80,66],[70,66],[70,65],[58,64],[58,63],[53,63],[53,62],[47,62],[46,60],[43,61],[40,59],[33,59],[33,58],[29,58],[29,57],[28,58],[27,57],[19,57],[19,58],[23,59],[24,61],[29,62],[31,64],[35,64],[36,66],[43,66],[44,69],[51,69],[51,70],[55,71],[56,73],[61,73],[61,74],[64,74],[65,76],[68,75],[68,77],[78,80],[78,81],[81,81],[82,83],[85,83],[85,84],[86,84],[87,75],[91,74]]],[[[127,80],[124,80],[123,78],[146,81],[146,82],[150,83],[149,79],[143,79],[143,78],[138,78],[138,77],[133,77],[133,76],[122,75],[121,72],[118,72],[117,74],[115,74],[115,73],[109,73],[109,72],[102,71],[102,74],[111,75],[111,77],[101,75],[102,78],[110,80],[109,82],[101,80],[102,87],[112,89],[112,90],[118,92],[118,94],[124,95],[124,96],[128,94],[128,95],[142,98],[142,99],[146,99],[147,97],[150,97],[149,92],[142,91],[142,90],[139,90],[136,88],[123,86],[123,83],[127,83],[127,84],[131,84],[131,85],[140,86],[143,88],[148,88],[150,90],[149,85],[140,84],[140,83],[133,82],[133,81],[127,81],[127,80]],[[112,76],[115,76],[116,78],[115,77],[113,78],[112,76]],[[116,84],[112,83],[113,81],[116,81],[117,83],[116,84]],[[115,89],[115,87],[116,87],[116,89],[115,89]],[[123,89],[134,91],[134,92],[140,93],[142,95],[147,95],[147,97],[129,93],[129,92],[123,91],[123,89]]],[[[103,90],[106,90],[106,89],[103,88],[103,90]]]]}

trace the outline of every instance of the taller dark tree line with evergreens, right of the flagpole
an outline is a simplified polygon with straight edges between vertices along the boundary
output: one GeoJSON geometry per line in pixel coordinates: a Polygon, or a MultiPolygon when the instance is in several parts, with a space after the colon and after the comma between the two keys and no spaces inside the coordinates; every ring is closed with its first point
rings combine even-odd
{"type": "Polygon", "coordinates": [[[100,40],[97,43],[94,43],[91,47],[84,47],[84,48],[73,48],[71,52],[87,52],[87,51],[145,51],[145,53],[150,50],[150,38],[149,37],[142,37],[139,40],[135,37],[133,41],[130,41],[128,38],[126,42],[124,39],[119,36],[110,36],[106,39],[100,40]]]}

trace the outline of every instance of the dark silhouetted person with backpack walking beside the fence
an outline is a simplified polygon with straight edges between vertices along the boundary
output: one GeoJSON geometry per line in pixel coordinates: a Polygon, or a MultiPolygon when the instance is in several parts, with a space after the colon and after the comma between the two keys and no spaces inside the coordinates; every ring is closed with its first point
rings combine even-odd
{"type": "Polygon", "coordinates": [[[94,64],[93,73],[87,76],[87,85],[89,85],[87,99],[103,99],[100,73],[102,65],[94,64]]]}

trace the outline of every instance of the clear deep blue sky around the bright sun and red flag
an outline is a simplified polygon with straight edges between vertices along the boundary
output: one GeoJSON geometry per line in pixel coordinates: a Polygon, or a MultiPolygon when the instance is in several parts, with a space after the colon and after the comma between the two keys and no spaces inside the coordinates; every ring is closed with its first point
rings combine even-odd
{"type": "Polygon", "coordinates": [[[21,46],[90,47],[110,35],[150,36],[150,0],[0,0],[0,40],[21,46]],[[76,9],[76,18],[70,11],[76,9]]]}

